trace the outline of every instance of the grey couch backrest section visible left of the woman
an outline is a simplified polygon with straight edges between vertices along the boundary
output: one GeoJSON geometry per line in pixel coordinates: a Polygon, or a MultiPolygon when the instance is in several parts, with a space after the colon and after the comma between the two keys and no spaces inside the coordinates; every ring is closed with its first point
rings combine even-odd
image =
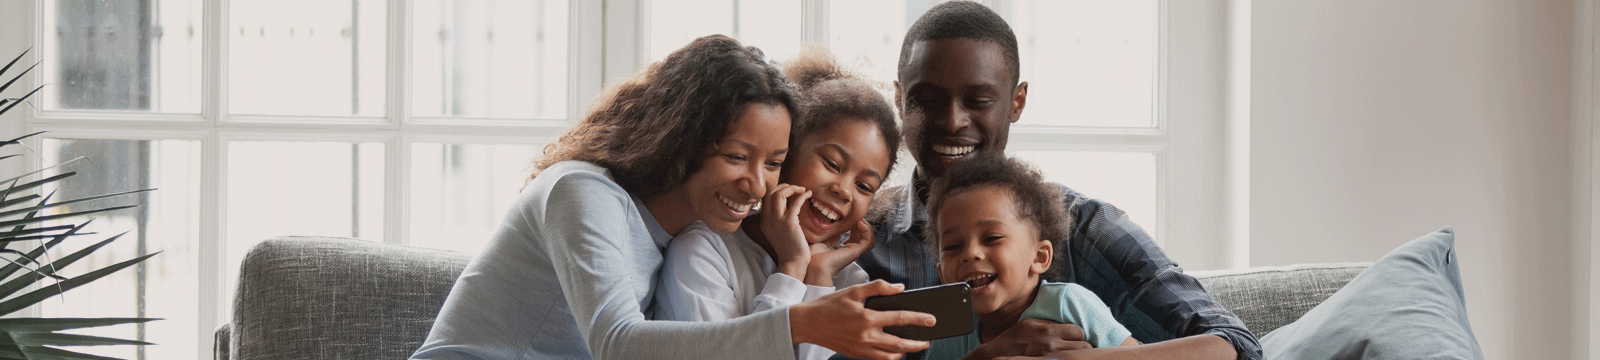
{"type": "Polygon", "coordinates": [[[406,358],[470,258],[350,238],[280,237],[245,256],[234,358],[406,358]]]}

